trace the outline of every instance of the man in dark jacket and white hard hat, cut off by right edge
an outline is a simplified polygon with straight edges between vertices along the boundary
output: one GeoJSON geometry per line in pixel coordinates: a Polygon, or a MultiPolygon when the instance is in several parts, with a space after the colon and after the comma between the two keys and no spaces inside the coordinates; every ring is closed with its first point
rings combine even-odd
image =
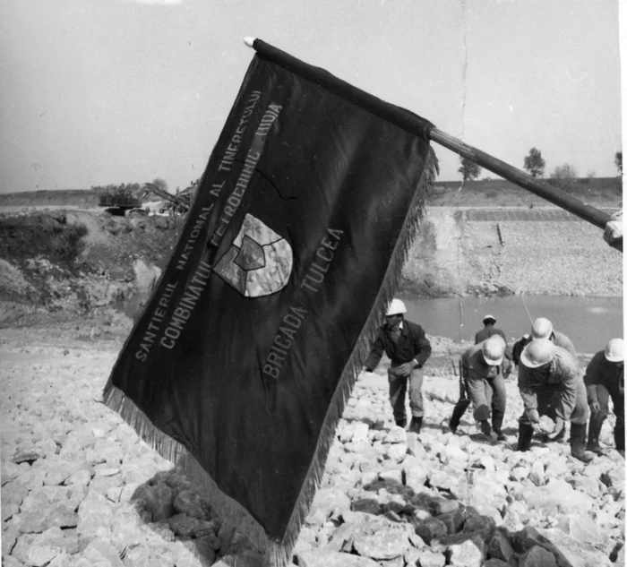
{"type": "Polygon", "coordinates": [[[601,454],[598,444],[603,422],[609,413],[612,398],[616,425],[614,443],[616,451],[625,456],[625,344],[623,339],[611,339],[606,348],[599,350],[588,363],[584,381],[588,390],[588,404],[592,416],[588,425],[588,451],[601,454]]]}

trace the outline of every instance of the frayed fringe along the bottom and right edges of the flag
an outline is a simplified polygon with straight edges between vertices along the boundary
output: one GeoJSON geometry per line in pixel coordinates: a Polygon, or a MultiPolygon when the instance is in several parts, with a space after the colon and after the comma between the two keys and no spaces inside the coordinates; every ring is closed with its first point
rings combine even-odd
{"type": "MultiPolygon", "coordinates": [[[[133,427],[150,448],[158,451],[163,458],[175,464],[176,467],[181,468],[185,475],[199,487],[203,496],[210,501],[211,508],[220,516],[221,520],[234,526],[274,567],[283,567],[290,563],[291,551],[296,545],[300,529],[314,502],[316,490],[321,484],[339,419],[344,413],[344,408],[355,386],[357,376],[366,357],[368,357],[376,333],[382,325],[384,308],[390,303],[399,286],[403,265],[407,261],[409,249],[417,235],[420,220],[425,211],[425,194],[433,186],[437,172],[437,158],[434,150],[429,148],[423,175],[400,230],[382,286],[368,314],[364,329],[356,340],[348,363],[339,378],[338,386],[322,423],[314,459],[305,476],[305,482],[296,500],[285,534],[280,540],[269,537],[261,524],[253,519],[244,506],[224,494],[198,461],[193,458],[193,455],[187,451],[185,445],[160,431],[150,422],[149,417],[135,405],[132,399],[116,388],[110,379],[107,382],[104,391],[104,403],[107,408],[116,411],[128,425],[133,427]]],[[[223,557],[222,559],[236,567],[235,556],[223,557]]]]}

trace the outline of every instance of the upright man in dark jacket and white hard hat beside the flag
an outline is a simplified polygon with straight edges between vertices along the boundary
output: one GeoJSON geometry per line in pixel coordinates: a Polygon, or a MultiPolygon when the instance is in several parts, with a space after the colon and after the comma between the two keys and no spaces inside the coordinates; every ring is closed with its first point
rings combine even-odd
{"type": "Polygon", "coordinates": [[[388,370],[390,383],[390,403],[396,425],[407,425],[405,398],[409,390],[411,423],[409,431],[419,434],[422,428],[425,409],[423,405],[423,366],[431,356],[431,343],[425,337],[423,328],[405,319],[407,307],[394,298],[385,312],[385,323],[374,340],[370,356],[365,361],[365,369],[373,372],[379,364],[383,351],[390,357],[388,370]]]}

